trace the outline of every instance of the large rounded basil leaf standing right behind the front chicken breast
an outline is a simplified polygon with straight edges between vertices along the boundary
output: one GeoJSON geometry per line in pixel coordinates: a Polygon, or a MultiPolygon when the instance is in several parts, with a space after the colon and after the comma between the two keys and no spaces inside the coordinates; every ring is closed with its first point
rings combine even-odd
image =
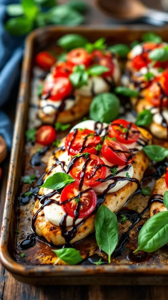
{"type": "Polygon", "coordinates": [[[118,116],[120,100],[112,93],[102,93],[95,96],[91,102],[89,116],[94,121],[110,122],[118,116]]]}

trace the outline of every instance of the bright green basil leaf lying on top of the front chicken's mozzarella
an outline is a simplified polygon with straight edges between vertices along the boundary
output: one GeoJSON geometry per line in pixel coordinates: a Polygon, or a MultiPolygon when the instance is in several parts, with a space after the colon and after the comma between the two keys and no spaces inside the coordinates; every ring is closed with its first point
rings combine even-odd
{"type": "Polygon", "coordinates": [[[52,190],[59,190],[65,187],[67,184],[74,182],[75,180],[66,173],[55,173],[47,178],[47,180],[40,187],[51,188],[52,190]]]}

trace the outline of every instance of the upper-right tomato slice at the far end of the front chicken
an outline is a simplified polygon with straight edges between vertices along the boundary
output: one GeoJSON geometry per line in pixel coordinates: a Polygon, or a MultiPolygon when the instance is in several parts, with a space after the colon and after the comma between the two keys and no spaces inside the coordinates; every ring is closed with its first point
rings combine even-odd
{"type": "Polygon", "coordinates": [[[132,144],[139,138],[138,127],[123,119],[117,119],[109,125],[110,137],[115,137],[118,142],[123,144],[132,144]]]}

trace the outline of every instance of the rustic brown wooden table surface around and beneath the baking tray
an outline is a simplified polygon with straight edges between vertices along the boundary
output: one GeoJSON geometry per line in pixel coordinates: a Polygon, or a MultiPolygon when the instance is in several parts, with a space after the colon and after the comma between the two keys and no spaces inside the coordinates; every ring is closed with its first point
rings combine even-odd
{"type": "MultiPolygon", "coordinates": [[[[98,11],[93,3],[94,0],[85,0],[89,6],[89,12],[86,16],[85,23],[94,25],[110,25],[114,21],[106,17],[103,13],[98,11]],[[93,2],[93,3],[92,3],[93,2]]],[[[112,1],[112,0],[109,0],[112,1]]],[[[64,0],[62,2],[65,2],[64,0]]],[[[160,8],[159,1],[146,0],[143,1],[149,6],[155,5],[155,8],[160,8]]],[[[10,101],[10,109],[8,106],[4,107],[6,113],[14,122],[14,110],[16,106],[15,92],[10,101]]],[[[3,170],[3,181],[1,182],[0,193],[0,225],[3,213],[4,196],[6,190],[7,173],[8,173],[9,157],[1,164],[3,170]]],[[[16,281],[1,265],[0,265],[0,299],[10,300],[29,300],[29,299],[57,299],[57,300],[166,300],[168,299],[167,286],[33,286],[16,281]]]]}

